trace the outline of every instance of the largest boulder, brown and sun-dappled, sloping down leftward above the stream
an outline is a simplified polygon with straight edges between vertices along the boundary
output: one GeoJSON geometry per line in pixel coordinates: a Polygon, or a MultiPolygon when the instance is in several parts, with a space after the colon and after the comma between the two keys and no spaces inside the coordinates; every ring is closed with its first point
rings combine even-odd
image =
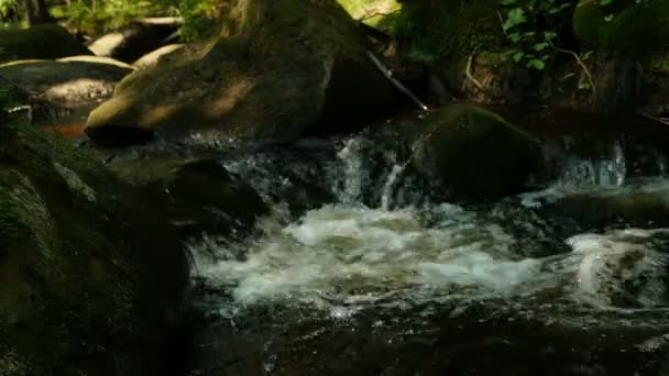
{"type": "Polygon", "coordinates": [[[133,130],[189,141],[355,130],[392,97],[366,48],[333,0],[242,1],[212,43],[125,78],[90,114],[87,133],[105,144],[133,130]]]}

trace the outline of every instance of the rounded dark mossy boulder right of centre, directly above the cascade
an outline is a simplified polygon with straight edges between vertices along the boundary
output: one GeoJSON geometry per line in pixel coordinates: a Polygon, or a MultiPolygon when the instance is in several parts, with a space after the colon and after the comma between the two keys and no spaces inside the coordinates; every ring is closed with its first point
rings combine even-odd
{"type": "Polygon", "coordinates": [[[454,196],[517,192],[539,158],[536,141],[487,110],[454,104],[429,118],[413,146],[414,166],[454,196]]]}

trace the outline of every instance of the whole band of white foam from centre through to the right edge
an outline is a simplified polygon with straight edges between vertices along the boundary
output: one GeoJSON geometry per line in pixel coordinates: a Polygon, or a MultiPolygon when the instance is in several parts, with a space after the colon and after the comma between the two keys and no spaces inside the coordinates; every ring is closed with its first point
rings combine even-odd
{"type": "Polygon", "coordinates": [[[267,228],[243,259],[230,257],[228,245],[194,246],[196,270],[228,290],[237,307],[307,303],[339,316],[342,306],[387,305],[388,298],[406,306],[556,287],[596,309],[668,302],[669,255],[655,251],[652,240],[669,230],[580,234],[567,240],[570,254],[520,259],[514,239],[497,224],[451,204],[432,210],[443,220],[426,228],[413,209],[326,206],[287,226],[267,228]]]}

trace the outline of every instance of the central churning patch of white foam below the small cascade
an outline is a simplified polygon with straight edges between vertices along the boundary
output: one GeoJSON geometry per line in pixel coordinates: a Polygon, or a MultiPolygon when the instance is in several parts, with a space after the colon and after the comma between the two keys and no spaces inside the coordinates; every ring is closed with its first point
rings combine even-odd
{"type": "Polygon", "coordinates": [[[198,258],[205,252],[196,248],[197,269],[230,287],[241,305],[373,301],[403,290],[498,296],[538,273],[539,261],[514,259],[513,239],[500,226],[475,224],[471,213],[453,207],[445,210],[457,217],[427,229],[408,209],[327,206],[267,234],[245,261],[211,262],[198,258]]]}

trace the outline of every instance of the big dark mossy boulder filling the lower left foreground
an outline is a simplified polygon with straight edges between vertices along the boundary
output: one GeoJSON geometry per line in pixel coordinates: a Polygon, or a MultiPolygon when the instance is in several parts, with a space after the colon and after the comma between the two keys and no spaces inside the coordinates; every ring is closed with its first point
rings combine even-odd
{"type": "Polygon", "coordinates": [[[91,156],[0,126],[0,374],[164,374],[186,256],[91,156]]]}

